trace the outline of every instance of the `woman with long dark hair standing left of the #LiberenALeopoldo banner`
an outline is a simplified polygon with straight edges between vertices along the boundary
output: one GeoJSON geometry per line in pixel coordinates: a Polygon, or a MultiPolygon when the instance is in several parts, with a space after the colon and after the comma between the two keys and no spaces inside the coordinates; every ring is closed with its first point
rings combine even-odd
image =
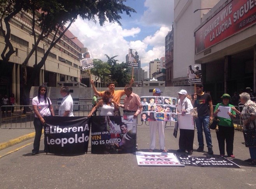
{"type": "MultiPolygon", "coordinates": [[[[32,156],[39,153],[40,139],[42,135],[42,128],[47,116],[54,116],[54,110],[51,100],[47,98],[47,88],[41,85],[38,88],[38,95],[32,99],[33,111],[35,112],[34,127],[35,139],[33,144],[32,156]]],[[[44,152],[46,151],[46,140],[44,140],[44,152]]]]}

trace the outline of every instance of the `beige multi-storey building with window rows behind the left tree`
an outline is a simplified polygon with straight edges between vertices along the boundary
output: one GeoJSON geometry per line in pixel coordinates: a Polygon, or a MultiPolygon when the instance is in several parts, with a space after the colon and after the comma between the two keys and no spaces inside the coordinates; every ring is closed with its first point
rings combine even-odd
{"type": "MultiPolygon", "coordinates": [[[[34,46],[32,33],[32,14],[29,12],[19,12],[11,19],[11,43],[15,53],[11,55],[7,63],[7,70],[0,75],[0,94],[10,95],[14,93],[18,102],[23,93],[24,76],[21,64],[25,61],[28,52],[34,46]]],[[[36,34],[40,33],[40,27],[36,26],[36,34]]],[[[50,34],[37,47],[37,57],[33,53],[26,67],[26,77],[33,73],[35,61],[39,62],[49,47],[53,35],[50,34]]],[[[0,52],[5,47],[5,41],[0,33],[0,52]]],[[[51,49],[45,66],[40,70],[40,74],[33,81],[34,86],[47,84],[56,87],[58,81],[80,81],[81,66],[79,54],[86,52],[84,45],[70,32],[67,31],[62,39],[51,49]]],[[[2,63],[2,58],[0,58],[2,63]]]]}

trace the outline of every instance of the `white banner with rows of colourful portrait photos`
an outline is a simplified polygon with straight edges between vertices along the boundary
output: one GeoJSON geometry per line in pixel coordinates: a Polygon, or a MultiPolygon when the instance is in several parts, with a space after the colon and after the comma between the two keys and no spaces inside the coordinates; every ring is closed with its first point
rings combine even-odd
{"type": "Polygon", "coordinates": [[[142,96],[141,121],[177,121],[175,97],[142,96]]]}

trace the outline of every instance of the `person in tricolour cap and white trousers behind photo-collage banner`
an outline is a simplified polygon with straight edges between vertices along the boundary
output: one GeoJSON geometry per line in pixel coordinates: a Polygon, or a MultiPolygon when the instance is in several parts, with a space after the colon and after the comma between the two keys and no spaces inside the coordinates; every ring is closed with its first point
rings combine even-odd
{"type": "MultiPolygon", "coordinates": [[[[161,96],[162,91],[159,88],[154,88],[153,96],[161,96]]],[[[156,148],[156,128],[158,127],[159,134],[159,145],[161,152],[165,150],[165,127],[164,121],[149,121],[149,132],[150,132],[150,146],[149,152],[153,152],[156,148]]]]}

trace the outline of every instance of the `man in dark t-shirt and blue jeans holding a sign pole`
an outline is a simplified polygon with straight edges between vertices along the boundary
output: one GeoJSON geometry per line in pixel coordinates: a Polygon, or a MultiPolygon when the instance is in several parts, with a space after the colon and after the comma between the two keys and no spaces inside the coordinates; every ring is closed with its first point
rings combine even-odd
{"type": "Polygon", "coordinates": [[[210,94],[203,92],[203,85],[196,85],[196,93],[193,96],[192,105],[197,108],[198,118],[195,119],[197,128],[197,139],[199,147],[198,152],[203,151],[203,131],[205,133],[205,140],[208,147],[208,154],[213,154],[212,151],[212,137],[210,135],[209,121],[213,118],[212,98],[210,94]],[[209,111],[210,110],[210,111],[209,111]],[[210,113],[210,114],[209,114],[210,113]]]}

